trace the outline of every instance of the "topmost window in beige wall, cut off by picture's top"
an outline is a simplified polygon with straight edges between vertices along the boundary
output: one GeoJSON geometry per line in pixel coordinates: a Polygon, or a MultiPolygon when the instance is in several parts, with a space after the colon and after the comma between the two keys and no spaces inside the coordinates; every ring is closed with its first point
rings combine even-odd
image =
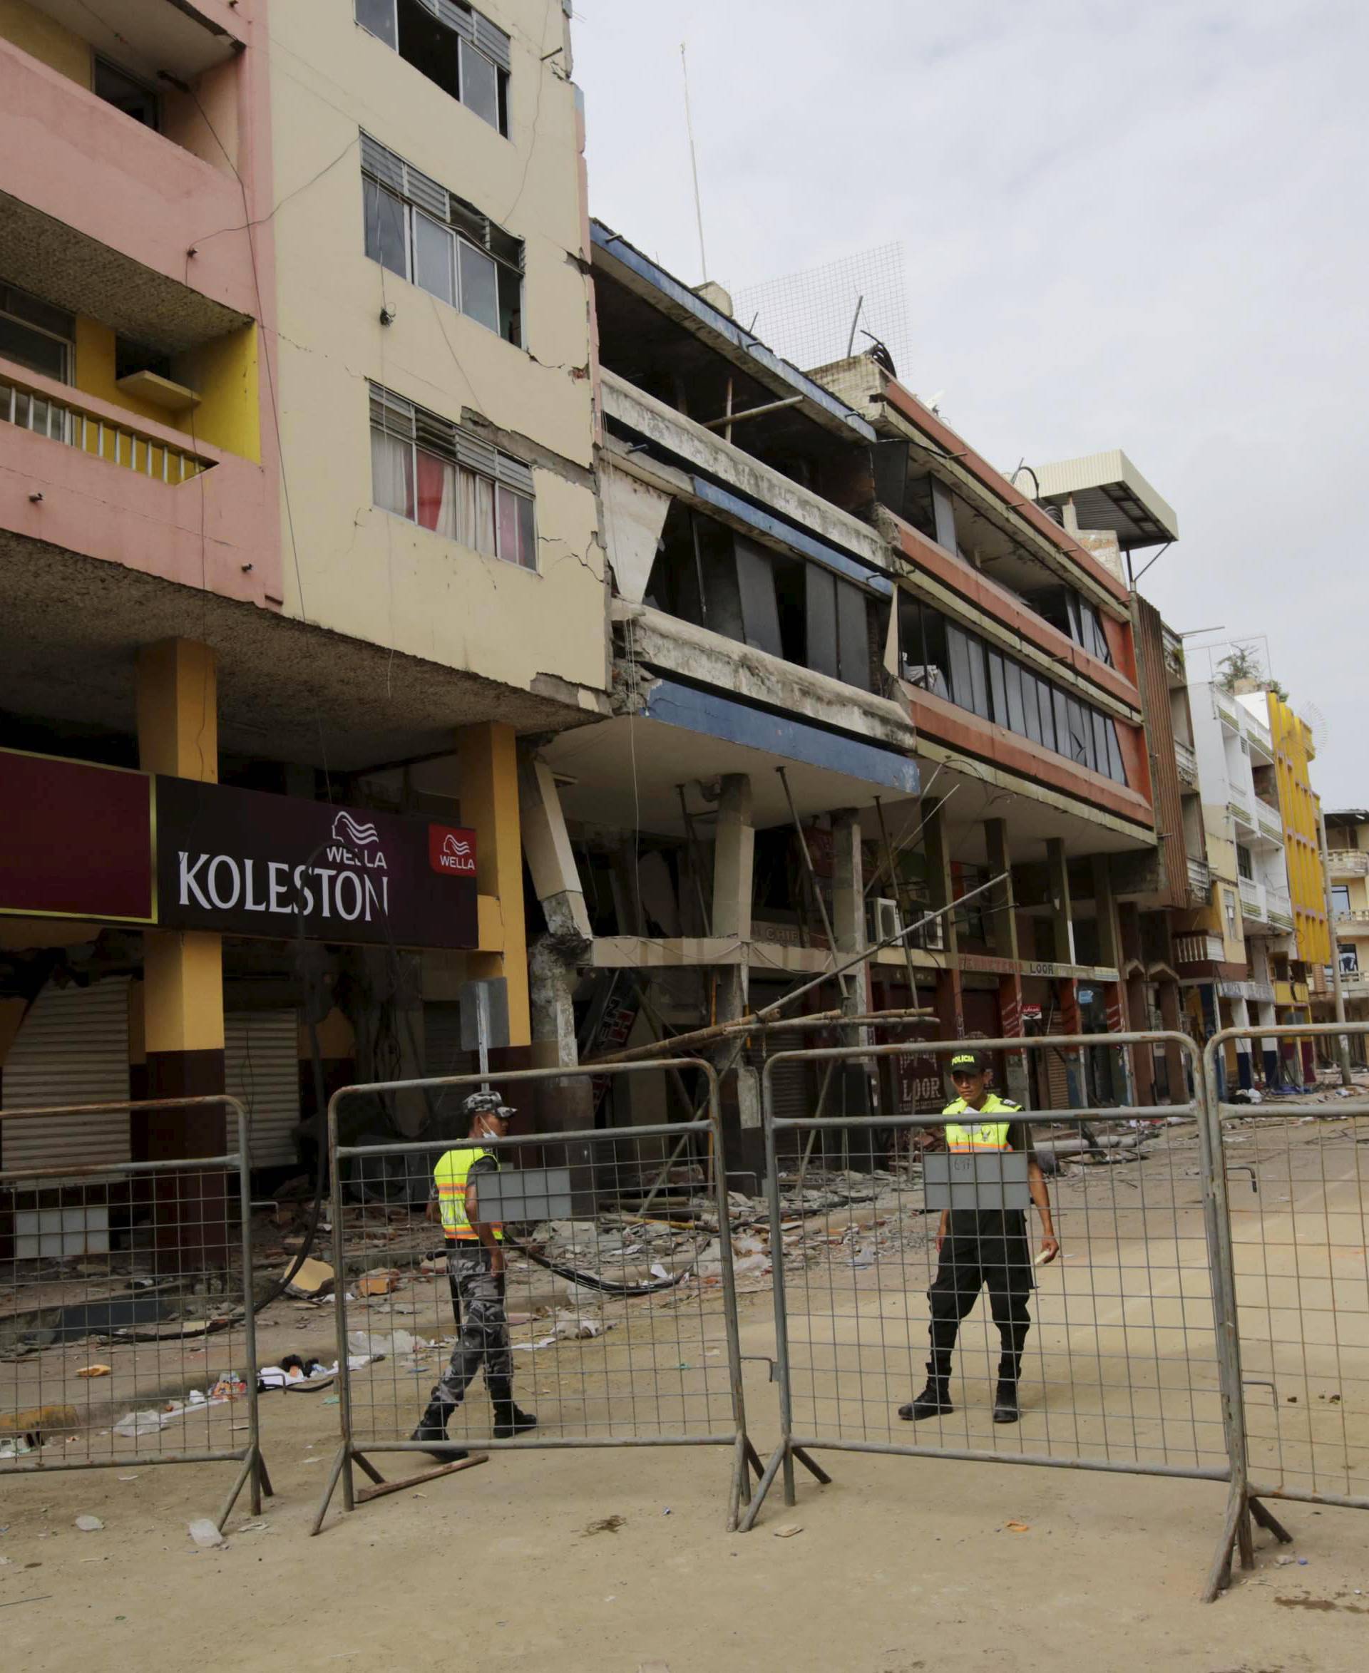
{"type": "Polygon", "coordinates": [[[500,134],[509,134],[509,37],[459,0],[355,0],[361,28],[500,134]]]}

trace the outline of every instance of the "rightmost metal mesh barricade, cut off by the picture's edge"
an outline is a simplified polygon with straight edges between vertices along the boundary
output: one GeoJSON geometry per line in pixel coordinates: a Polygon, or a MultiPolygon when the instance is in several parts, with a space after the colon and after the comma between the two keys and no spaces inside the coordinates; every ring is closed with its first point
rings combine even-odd
{"type": "Polygon", "coordinates": [[[1217,1059],[1237,1041],[1351,1034],[1369,1024],[1225,1029],[1205,1047],[1228,1203],[1243,1556],[1247,1511],[1277,1529],[1260,1501],[1369,1509],[1369,1089],[1218,1099],[1217,1059]]]}

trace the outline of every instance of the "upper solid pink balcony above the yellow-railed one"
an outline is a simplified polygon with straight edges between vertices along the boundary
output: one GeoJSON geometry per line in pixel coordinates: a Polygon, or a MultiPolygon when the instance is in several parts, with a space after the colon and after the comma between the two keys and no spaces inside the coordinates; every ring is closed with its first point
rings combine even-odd
{"type": "MultiPolygon", "coordinates": [[[[146,0],[131,10],[147,10],[146,0]]],[[[244,214],[234,176],[7,40],[0,156],[8,159],[0,249],[12,284],[166,355],[256,316],[243,231],[253,211],[244,214]]]]}

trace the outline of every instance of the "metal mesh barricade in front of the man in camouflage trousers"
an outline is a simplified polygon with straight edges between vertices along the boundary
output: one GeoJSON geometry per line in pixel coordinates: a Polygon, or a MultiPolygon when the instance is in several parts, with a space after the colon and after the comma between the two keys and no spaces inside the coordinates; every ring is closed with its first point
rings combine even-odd
{"type": "Polygon", "coordinates": [[[728,1527],[736,1527],[746,1472],[760,1476],[760,1459],[746,1439],[711,1064],[674,1057],[343,1087],[328,1104],[328,1154],[341,1440],[313,1532],[338,1481],[351,1511],[482,1464],[494,1449],[636,1445],[730,1449],[728,1527]],[[479,1243],[454,1250],[428,1206],[435,1164],[469,1143],[465,1123],[457,1118],[438,1139],[338,1138],[338,1108],[351,1097],[465,1094],[490,1082],[507,1092],[663,1067],[701,1077],[708,1119],[477,1141],[500,1161],[477,1176],[477,1201],[494,1200],[504,1226],[505,1273],[494,1293],[479,1243]],[[368,1178],[383,1181],[388,1200],[367,1201],[382,1195],[368,1178]],[[412,1439],[433,1404],[447,1442],[462,1449],[449,1461],[432,1432],[412,1439]],[[536,1427],[520,1425],[524,1407],[536,1427]],[[433,1447],[437,1466],[400,1482],[372,1462],[378,1452],[422,1457],[433,1447]],[[372,1486],[355,1486],[353,1466],[372,1486]]]}

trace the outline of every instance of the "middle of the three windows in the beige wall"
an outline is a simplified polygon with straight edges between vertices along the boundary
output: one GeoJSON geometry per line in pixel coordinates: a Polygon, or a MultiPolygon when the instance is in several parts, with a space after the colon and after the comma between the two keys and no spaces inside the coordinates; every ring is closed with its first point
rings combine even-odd
{"type": "Polygon", "coordinates": [[[372,261],[522,345],[522,239],[370,134],[361,136],[361,209],[372,261]]]}

